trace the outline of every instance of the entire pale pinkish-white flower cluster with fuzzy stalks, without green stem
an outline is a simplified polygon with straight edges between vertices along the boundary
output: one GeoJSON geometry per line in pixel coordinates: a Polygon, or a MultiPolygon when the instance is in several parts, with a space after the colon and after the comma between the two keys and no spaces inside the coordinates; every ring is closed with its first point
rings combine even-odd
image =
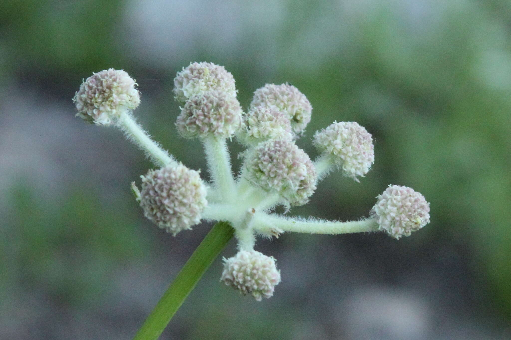
{"type": "Polygon", "coordinates": [[[281,281],[273,257],[254,250],[256,236],[284,232],[342,234],[383,231],[393,238],[409,236],[429,222],[429,203],[411,188],[390,185],[367,218],[325,221],[286,213],[309,201],[318,182],[332,170],[359,181],[374,162],[373,139],[355,122],[334,122],[314,134],[318,156],[312,161],[295,141],[311,120],[312,106],[289,84],[266,84],[255,90],[244,112],[236,99],[233,76],[212,63],[191,63],[174,79],[181,113],[175,123],[184,138],[204,146],[211,182],[200,177],[150,139],[136,123],[132,109],[140,103],[135,81],[113,69],[87,78],[74,97],[77,116],[97,125],[114,125],[145,150],[158,166],[132,190],[145,216],[174,236],[205,220],[228,221],[235,230],[238,253],[224,258],[221,281],[258,301],[273,295],[281,281]],[[235,176],[226,140],[246,147],[235,176]]]}

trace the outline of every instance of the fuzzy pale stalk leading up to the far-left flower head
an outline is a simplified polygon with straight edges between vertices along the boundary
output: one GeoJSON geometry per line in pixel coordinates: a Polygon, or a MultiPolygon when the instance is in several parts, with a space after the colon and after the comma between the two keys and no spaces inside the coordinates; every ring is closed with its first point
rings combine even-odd
{"type": "Polygon", "coordinates": [[[126,137],[146,152],[146,155],[157,166],[177,165],[177,161],[158,143],[153,141],[144,129],[125,111],[119,117],[117,126],[126,134],[126,137]]]}

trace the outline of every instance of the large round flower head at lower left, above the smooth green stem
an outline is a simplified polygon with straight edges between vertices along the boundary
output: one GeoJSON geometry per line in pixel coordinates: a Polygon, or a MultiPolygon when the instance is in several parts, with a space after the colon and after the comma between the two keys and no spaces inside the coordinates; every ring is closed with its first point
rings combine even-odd
{"type": "Polygon", "coordinates": [[[179,164],[149,170],[141,177],[140,206],[159,228],[175,236],[200,222],[207,201],[198,171],[179,164]]]}

